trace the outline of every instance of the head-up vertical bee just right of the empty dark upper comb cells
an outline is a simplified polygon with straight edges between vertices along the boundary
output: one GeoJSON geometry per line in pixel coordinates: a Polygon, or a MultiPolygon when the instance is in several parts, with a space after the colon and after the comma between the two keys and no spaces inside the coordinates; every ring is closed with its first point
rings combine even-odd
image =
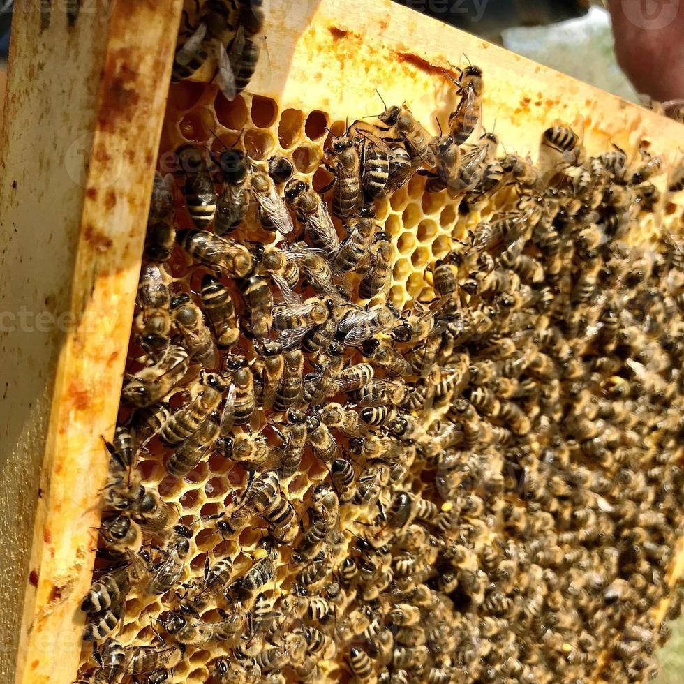
{"type": "MultiPolygon", "coordinates": [[[[321,189],[321,194],[330,188],[332,195],[332,213],[339,218],[357,216],[363,204],[361,158],[355,140],[349,131],[334,137],[331,142],[332,164],[326,163],[327,169],[334,178],[331,184],[321,189]]],[[[339,240],[337,246],[339,247],[339,240]]]]}

